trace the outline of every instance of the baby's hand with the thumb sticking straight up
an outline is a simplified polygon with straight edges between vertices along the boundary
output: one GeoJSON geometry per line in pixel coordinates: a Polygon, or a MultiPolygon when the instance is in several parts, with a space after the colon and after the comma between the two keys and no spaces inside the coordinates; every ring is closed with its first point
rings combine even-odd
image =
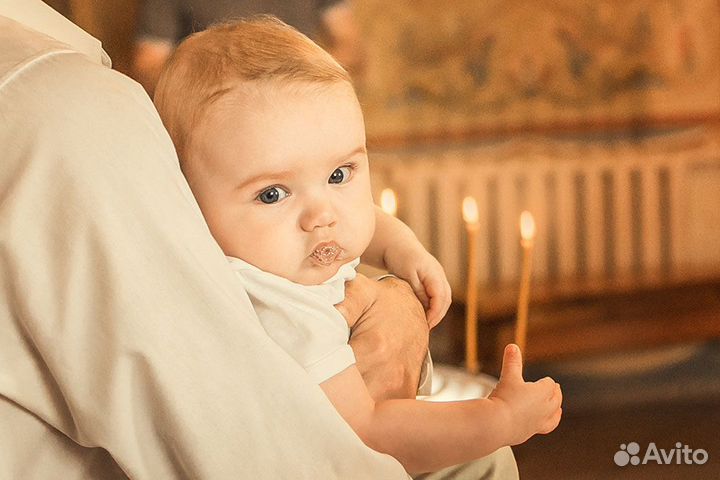
{"type": "Polygon", "coordinates": [[[489,398],[507,408],[510,445],[523,443],[536,433],[550,433],[560,423],[560,385],[550,377],[537,382],[523,380],[522,354],[517,345],[505,347],[500,382],[489,398]]]}

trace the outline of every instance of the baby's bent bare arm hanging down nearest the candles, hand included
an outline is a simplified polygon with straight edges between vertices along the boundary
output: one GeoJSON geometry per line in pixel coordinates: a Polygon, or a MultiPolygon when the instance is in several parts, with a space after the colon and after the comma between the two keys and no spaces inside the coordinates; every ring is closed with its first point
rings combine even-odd
{"type": "Polygon", "coordinates": [[[430,328],[447,313],[451,293],[442,266],[407,225],[379,207],[375,208],[375,234],[361,261],[407,281],[427,311],[430,328]]]}

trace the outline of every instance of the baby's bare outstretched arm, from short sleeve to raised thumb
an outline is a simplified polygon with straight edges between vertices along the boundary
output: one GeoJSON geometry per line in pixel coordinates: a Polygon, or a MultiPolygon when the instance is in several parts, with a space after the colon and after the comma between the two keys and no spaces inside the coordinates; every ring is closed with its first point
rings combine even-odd
{"type": "Polygon", "coordinates": [[[355,366],[321,384],[340,415],[371,448],[411,473],[439,470],[516,445],[560,421],[562,394],[550,379],[526,383],[517,347],[505,352],[489,398],[459,402],[374,402],[355,366]]]}

